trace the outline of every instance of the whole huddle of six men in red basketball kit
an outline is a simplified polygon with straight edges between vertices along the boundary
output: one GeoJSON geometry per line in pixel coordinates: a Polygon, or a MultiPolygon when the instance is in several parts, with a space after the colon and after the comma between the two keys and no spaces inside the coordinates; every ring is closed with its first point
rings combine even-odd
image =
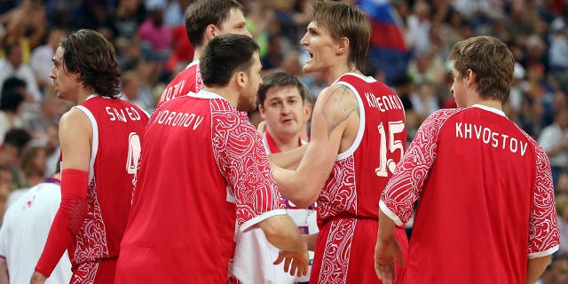
{"type": "Polygon", "coordinates": [[[540,277],[559,248],[552,177],[502,111],[515,63],[504,43],[454,45],[458,108],[431,114],[406,146],[402,102],[361,71],[371,31],[356,5],[312,6],[303,70],[327,82],[313,108],[294,75],[261,76],[242,10],[188,6],[193,62],[151,115],[117,99],[104,36],[83,29],[59,43],[50,77],[76,106],[59,122],[61,203],[31,283],[49,280],[66,250],[70,283],[540,277]],[[248,120],[256,108],[261,130],[248,120]]]}

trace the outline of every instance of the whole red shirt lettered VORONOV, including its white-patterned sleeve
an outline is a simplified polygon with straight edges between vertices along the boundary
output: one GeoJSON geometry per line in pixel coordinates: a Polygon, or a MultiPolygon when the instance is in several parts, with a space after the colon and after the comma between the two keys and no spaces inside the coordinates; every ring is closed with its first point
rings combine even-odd
{"type": "Polygon", "coordinates": [[[244,231],[281,214],[246,113],[208,91],[172,99],[146,130],[115,283],[226,283],[235,217],[244,231]]]}

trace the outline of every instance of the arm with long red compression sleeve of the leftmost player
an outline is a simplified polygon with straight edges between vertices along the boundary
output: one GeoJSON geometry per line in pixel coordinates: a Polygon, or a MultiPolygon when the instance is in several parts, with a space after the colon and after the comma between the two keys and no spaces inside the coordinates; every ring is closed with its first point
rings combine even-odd
{"type": "MultiPolygon", "coordinates": [[[[36,272],[49,276],[69,247],[87,213],[87,183],[91,164],[91,122],[72,108],[59,121],[59,142],[63,154],[61,204],[51,225],[36,272]]],[[[35,275],[35,277],[38,275],[35,275]]]]}

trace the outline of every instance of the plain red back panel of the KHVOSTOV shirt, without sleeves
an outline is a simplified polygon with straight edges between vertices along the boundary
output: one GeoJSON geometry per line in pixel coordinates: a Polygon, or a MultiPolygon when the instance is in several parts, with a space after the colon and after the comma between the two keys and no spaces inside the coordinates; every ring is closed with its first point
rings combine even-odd
{"type": "Polygon", "coordinates": [[[522,283],[533,189],[545,178],[536,164],[544,167],[546,155],[501,111],[451,112],[422,125],[442,123],[432,127],[438,147],[425,149],[436,155],[418,202],[406,282],[522,283]]]}

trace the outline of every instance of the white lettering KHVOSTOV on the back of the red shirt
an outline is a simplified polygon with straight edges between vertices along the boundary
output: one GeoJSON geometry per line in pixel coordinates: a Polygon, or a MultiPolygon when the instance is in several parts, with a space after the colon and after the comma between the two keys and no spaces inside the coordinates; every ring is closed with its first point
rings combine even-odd
{"type": "Polygon", "coordinates": [[[526,146],[529,145],[528,142],[519,138],[509,137],[507,134],[499,133],[488,127],[466,122],[455,122],[455,138],[477,139],[494,148],[509,150],[521,156],[525,155],[526,146]]]}

